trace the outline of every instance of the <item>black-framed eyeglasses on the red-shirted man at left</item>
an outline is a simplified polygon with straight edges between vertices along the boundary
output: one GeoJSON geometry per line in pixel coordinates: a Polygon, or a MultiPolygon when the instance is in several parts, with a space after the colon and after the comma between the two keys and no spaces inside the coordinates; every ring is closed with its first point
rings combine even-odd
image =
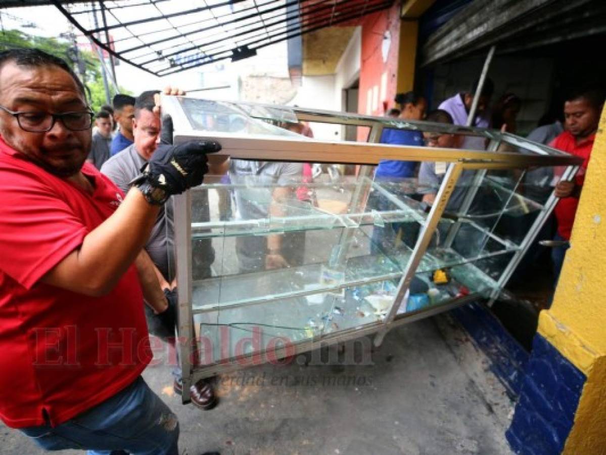
{"type": "Polygon", "coordinates": [[[93,117],[95,116],[95,113],[90,110],[51,114],[35,111],[15,112],[4,106],[0,106],[0,109],[15,117],[19,127],[28,133],[46,133],[53,129],[55,122],[58,120],[61,120],[61,123],[68,130],[88,130],[93,125],[93,117]]]}

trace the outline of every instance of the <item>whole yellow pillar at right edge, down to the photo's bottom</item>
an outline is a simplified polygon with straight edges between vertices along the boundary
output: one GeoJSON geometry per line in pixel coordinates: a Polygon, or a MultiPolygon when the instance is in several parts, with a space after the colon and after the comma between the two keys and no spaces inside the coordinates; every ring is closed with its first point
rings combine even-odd
{"type": "Polygon", "coordinates": [[[539,333],[587,376],[565,454],[606,453],[606,110],[564,267],[539,333]]]}

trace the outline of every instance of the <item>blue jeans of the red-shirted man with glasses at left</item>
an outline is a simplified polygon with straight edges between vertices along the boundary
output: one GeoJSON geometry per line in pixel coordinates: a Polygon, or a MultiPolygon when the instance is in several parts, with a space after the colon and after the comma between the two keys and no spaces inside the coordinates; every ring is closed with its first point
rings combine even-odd
{"type": "Polygon", "coordinates": [[[133,384],[55,428],[21,428],[45,450],[88,455],[178,455],[179,421],[139,376],[133,384]]]}

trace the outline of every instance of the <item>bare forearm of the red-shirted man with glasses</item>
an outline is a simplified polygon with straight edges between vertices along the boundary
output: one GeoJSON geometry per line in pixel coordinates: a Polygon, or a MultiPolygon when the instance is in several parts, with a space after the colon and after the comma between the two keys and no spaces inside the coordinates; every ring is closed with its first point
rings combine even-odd
{"type": "Polygon", "coordinates": [[[84,237],[78,250],[52,268],[42,282],[99,296],[109,292],[147,242],[159,207],[132,189],[118,210],[84,237]]]}

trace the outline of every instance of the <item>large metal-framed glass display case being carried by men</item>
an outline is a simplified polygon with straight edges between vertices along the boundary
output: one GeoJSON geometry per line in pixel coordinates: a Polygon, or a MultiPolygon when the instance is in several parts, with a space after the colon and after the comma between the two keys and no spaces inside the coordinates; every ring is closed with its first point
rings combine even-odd
{"type": "Polygon", "coordinates": [[[162,108],[175,143],[222,144],[204,184],[173,201],[184,402],[201,377],[365,334],[379,345],[395,325],[494,299],[580,164],[456,125],[188,96],[162,108]],[[367,142],[299,134],[319,124],[367,142]],[[379,143],[402,129],[486,149],[379,143]],[[375,177],[381,160],[414,176],[375,177]]]}

